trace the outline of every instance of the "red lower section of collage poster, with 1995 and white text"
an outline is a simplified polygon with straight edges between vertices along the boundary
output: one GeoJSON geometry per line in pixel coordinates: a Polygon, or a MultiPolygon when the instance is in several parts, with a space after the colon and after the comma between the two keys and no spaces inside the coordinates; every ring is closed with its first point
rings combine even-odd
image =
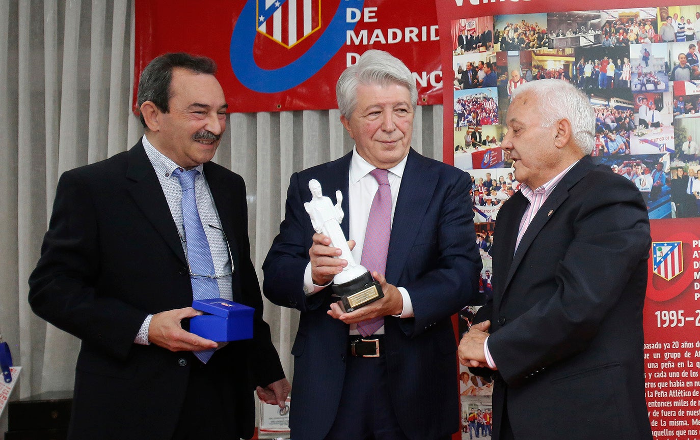
{"type": "Polygon", "coordinates": [[[699,268],[697,219],[652,221],[644,362],[657,439],[700,438],[699,268]]]}

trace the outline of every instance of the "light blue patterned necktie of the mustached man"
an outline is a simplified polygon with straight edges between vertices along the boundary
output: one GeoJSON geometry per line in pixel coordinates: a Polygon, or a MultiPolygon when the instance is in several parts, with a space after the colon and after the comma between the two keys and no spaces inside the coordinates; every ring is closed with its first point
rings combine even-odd
{"type": "MultiPolygon", "coordinates": [[[[221,294],[218,290],[218,281],[215,278],[214,261],[211,259],[209,241],[204,233],[200,212],[197,210],[195,179],[199,174],[198,170],[182,171],[180,168],[176,168],[173,171],[173,175],[180,180],[180,186],[182,186],[182,222],[185,228],[187,260],[190,265],[192,296],[195,300],[208,300],[219,298],[221,294]]],[[[214,354],[214,349],[195,351],[194,353],[199,360],[206,364],[211,359],[211,355],[214,354]]]]}

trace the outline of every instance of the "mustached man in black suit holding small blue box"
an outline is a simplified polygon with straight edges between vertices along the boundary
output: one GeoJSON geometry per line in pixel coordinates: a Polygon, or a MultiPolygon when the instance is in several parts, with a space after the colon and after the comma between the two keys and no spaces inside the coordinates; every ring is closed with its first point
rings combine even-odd
{"type": "Polygon", "coordinates": [[[29,302],[82,341],[70,439],[248,438],[255,386],[285,404],[289,383],[249,256],[245,185],[210,162],[226,117],[215,72],[189,54],[151,61],[139,81],[144,138],[59,180],[29,302]],[[196,170],[188,218],[198,212],[205,230],[209,275],[188,269],[205,251],[187,252],[184,170],[196,170]],[[216,279],[222,298],[253,307],[253,339],[218,346],[186,331],[202,314],[190,307],[190,277],[216,279]],[[194,354],[205,349],[207,362],[194,354]]]}

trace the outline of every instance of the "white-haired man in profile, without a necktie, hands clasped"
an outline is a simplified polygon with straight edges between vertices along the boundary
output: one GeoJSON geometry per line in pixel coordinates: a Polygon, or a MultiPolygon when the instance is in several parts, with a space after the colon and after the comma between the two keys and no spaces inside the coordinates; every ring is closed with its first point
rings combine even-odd
{"type": "Polygon", "coordinates": [[[559,80],[518,87],[507,111],[501,147],[521,190],[498,212],[493,298],[459,346],[463,365],[493,374],[494,440],[589,440],[601,426],[610,438],[652,438],[649,220],[634,184],[588,156],[594,120],[559,80]]]}

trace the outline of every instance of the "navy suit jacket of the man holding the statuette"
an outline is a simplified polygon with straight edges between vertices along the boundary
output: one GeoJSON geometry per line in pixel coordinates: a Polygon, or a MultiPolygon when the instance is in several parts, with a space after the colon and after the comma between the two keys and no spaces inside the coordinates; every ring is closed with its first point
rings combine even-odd
{"type": "MultiPolygon", "coordinates": [[[[275,304],[299,309],[292,436],[323,439],[335,420],[345,374],[348,325],[328,316],[331,289],[305,296],[304,269],[314,229],[304,210],[309,179],[325,193],[347,195],[351,155],[292,175],[280,233],[262,269],[263,292],[275,304]]],[[[479,289],[468,173],[411,150],[395,207],[386,279],[405,287],[414,318],[386,316],[384,340],[391,403],[403,432],[430,440],[458,430],[455,337],[450,316],[479,289]]],[[[344,212],[349,212],[343,198],[344,212]]],[[[346,219],[348,216],[346,215],[346,219]]],[[[342,222],[348,237],[349,221],[342,222]]],[[[351,238],[351,237],[349,237],[351,238]]]]}

